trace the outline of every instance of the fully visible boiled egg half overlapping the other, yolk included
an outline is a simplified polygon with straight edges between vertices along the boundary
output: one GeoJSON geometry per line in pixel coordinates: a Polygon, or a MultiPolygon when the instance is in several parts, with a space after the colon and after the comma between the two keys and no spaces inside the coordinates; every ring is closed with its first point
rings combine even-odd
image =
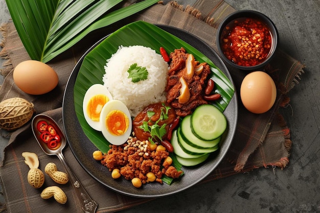
{"type": "Polygon", "coordinates": [[[124,144],[132,129],[129,109],[119,100],[109,101],[104,105],[100,114],[101,132],[113,145],[124,144]]]}

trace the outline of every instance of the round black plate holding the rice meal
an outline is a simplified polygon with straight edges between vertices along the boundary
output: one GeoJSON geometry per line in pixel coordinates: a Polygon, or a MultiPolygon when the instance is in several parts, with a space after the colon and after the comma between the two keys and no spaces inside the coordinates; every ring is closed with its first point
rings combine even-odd
{"type": "MultiPolygon", "coordinates": [[[[186,41],[194,46],[194,48],[197,50],[200,50],[205,56],[211,59],[230,80],[232,79],[220,57],[207,43],[184,30],[162,25],[158,25],[158,27],[186,41]]],[[[171,185],[166,183],[149,183],[144,184],[141,188],[135,188],[132,186],[131,181],[125,180],[124,178],[114,180],[111,178],[108,169],[99,161],[95,161],[92,158],[92,153],[97,150],[97,148],[82,131],[75,112],[73,93],[76,78],[84,57],[105,38],[94,44],[92,48],[90,48],[81,57],[79,62],[76,64],[65,88],[62,104],[62,119],[65,135],[74,156],[82,165],[83,169],[97,181],[116,192],[129,196],[144,198],[164,197],[184,191],[187,188],[195,185],[203,178],[208,176],[218,166],[232,144],[233,136],[236,131],[238,115],[238,101],[236,94],[234,94],[232,100],[223,112],[228,122],[228,129],[225,131],[220,142],[221,148],[219,151],[211,154],[211,156],[204,163],[197,165],[196,167],[182,167],[182,170],[185,172],[184,176],[173,181],[171,185]]]]}

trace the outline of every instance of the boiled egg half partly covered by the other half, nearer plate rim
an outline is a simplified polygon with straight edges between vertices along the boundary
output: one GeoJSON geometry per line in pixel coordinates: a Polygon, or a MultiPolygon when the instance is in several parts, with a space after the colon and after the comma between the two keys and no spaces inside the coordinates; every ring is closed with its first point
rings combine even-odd
{"type": "Polygon", "coordinates": [[[110,100],[112,96],[102,84],[94,84],[85,92],[82,105],[83,114],[86,122],[93,129],[101,131],[100,113],[103,106],[110,100]]]}

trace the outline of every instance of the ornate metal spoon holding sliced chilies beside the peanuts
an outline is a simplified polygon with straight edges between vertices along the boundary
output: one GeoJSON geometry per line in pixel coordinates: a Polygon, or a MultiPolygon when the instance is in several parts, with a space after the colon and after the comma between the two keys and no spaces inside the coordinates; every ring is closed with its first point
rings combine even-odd
{"type": "Polygon", "coordinates": [[[80,183],[76,175],[71,171],[70,167],[68,167],[65,161],[65,158],[62,154],[62,149],[66,145],[66,138],[62,133],[61,129],[59,128],[58,124],[50,116],[44,115],[44,114],[38,114],[32,120],[32,131],[43,152],[46,153],[47,155],[57,155],[58,158],[60,159],[76,191],[77,197],[82,205],[82,210],[85,213],[96,212],[96,209],[98,207],[97,202],[94,201],[92,198],[90,198],[90,196],[85,191],[84,187],[82,186],[82,184],[80,183]],[[59,141],[58,146],[56,148],[54,149],[49,148],[47,143],[44,143],[44,141],[41,139],[40,135],[42,132],[40,132],[37,128],[37,124],[41,121],[44,121],[48,125],[51,125],[56,130],[57,135],[60,136],[61,140],[59,141]]]}

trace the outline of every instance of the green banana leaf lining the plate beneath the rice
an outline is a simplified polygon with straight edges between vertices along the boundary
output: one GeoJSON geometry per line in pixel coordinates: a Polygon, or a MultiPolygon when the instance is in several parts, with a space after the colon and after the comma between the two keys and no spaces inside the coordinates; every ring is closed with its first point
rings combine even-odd
{"type": "Polygon", "coordinates": [[[143,45],[159,53],[162,46],[168,52],[184,47],[187,53],[194,55],[199,62],[207,62],[212,71],[212,79],[215,81],[216,91],[223,97],[214,103],[219,110],[224,111],[234,95],[234,86],[224,73],[199,50],[180,38],[158,28],[151,23],[136,21],[112,33],[103,40],[96,48],[90,51],[84,58],[79,69],[74,86],[75,111],[86,136],[102,152],[109,150],[109,142],[102,133],[92,129],[85,121],[82,102],[86,90],[93,84],[103,84],[102,78],[105,74],[104,66],[106,60],[116,53],[119,46],[143,45]]]}

